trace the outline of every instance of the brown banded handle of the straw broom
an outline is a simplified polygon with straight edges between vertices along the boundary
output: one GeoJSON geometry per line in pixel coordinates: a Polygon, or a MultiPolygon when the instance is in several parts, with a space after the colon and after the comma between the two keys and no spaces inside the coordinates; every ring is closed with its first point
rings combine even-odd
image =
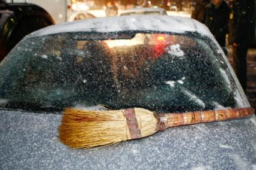
{"type": "Polygon", "coordinates": [[[226,110],[195,111],[187,113],[157,113],[157,119],[159,130],[165,130],[166,128],[174,126],[237,119],[252,114],[254,114],[253,108],[234,108],[226,110]]]}

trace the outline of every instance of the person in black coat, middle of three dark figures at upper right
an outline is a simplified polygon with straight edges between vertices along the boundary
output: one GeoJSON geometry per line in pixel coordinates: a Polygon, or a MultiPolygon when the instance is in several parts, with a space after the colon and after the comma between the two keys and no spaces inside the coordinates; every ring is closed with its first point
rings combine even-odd
{"type": "Polygon", "coordinates": [[[224,0],[213,0],[206,6],[205,25],[210,29],[221,47],[225,47],[228,33],[230,8],[224,0]]]}

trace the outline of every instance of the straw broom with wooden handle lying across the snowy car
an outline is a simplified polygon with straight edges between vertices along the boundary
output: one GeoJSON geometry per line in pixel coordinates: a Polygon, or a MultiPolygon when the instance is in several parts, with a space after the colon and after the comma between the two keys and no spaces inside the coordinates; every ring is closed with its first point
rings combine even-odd
{"type": "Polygon", "coordinates": [[[72,148],[91,148],[143,138],[166,128],[236,119],[254,114],[253,108],[156,113],[143,108],[111,111],[66,109],[59,139],[72,148]]]}

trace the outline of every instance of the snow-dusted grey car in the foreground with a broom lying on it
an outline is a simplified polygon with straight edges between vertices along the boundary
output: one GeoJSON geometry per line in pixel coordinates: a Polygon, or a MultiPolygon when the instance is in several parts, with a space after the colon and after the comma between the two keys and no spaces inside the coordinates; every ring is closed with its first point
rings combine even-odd
{"type": "Polygon", "coordinates": [[[256,166],[253,109],[209,29],[183,17],[96,18],[32,32],[0,63],[0,129],[1,169],[256,166]],[[230,110],[235,117],[252,115],[90,149],[59,139],[67,109],[135,107],[177,115],[222,112],[222,120],[230,110]]]}

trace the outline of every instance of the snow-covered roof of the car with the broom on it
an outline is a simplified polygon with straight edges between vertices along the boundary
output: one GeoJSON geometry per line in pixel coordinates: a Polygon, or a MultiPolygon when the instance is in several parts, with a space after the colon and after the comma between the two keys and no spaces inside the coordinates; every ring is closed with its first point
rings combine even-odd
{"type": "MultiPolygon", "coordinates": [[[[32,32],[28,37],[57,34],[63,32],[119,32],[119,31],[160,31],[160,32],[197,32],[213,38],[209,29],[197,20],[177,16],[138,15],[103,17],[78,20],[48,26],[32,32]]],[[[214,38],[213,38],[214,39],[214,38]]]]}

